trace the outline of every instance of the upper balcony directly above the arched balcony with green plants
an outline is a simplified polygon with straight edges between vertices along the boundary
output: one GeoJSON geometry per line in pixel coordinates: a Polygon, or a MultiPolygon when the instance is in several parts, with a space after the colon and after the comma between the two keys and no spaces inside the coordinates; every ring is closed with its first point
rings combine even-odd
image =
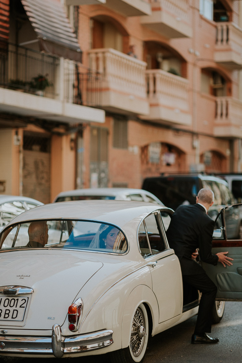
{"type": "Polygon", "coordinates": [[[191,38],[189,0],[149,0],[152,14],[142,16],[141,24],[166,38],[191,38]]]}

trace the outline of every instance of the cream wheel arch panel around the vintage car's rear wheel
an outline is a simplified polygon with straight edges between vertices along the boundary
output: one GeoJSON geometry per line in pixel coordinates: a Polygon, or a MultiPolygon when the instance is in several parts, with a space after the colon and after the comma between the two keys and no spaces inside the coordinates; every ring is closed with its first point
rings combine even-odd
{"type": "Polygon", "coordinates": [[[147,311],[151,335],[153,336],[156,334],[157,325],[155,322],[159,322],[159,307],[155,294],[146,285],[136,286],[128,296],[124,307],[122,320],[122,348],[128,347],[130,343],[132,319],[137,307],[141,303],[144,304],[147,311]]]}

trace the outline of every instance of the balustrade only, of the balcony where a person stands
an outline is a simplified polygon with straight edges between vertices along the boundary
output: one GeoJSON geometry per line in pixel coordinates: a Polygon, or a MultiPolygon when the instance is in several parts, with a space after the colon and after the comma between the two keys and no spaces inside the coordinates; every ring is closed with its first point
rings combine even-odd
{"type": "Polygon", "coordinates": [[[90,68],[103,74],[103,89],[146,98],[146,63],[115,49],[89,51],[90,68]]]}

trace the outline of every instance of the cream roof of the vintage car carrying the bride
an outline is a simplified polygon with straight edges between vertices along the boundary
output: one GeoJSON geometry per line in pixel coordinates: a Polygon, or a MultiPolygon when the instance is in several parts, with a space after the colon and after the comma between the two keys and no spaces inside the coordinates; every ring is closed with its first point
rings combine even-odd
{"type": "MultiPolygon", "coordinates": [[[[28,220],[83,219],[97,220],[124,227],[139,225],[145,216],[158,209],[170,210],[159,204],[123,200],[81,200],[45,204],[21,213],[9,224],[28,220]]],[[[173,212],[173,211],[172,211],[173,212]]]]}

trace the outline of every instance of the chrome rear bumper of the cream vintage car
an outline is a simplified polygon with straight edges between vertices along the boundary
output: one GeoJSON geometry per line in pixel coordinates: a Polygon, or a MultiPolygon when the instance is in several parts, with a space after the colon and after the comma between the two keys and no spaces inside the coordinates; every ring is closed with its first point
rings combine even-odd
{"type": "Polygon", "coordinates": [[[64,354],[105,348],[114,342],[112,333],[112,330],[100,330],[66,338],[60,325],[56,324],[53,325],[51,338],[0,335],[0,354],[51,354],[61,358],[64,354]]]}

